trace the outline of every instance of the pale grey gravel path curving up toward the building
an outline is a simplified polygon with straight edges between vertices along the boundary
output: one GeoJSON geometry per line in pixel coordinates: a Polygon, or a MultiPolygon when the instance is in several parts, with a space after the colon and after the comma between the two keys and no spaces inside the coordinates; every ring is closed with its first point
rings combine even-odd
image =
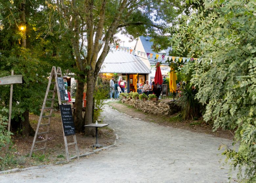
{"type": "Polygon", "coordinates": [[[219,163],[224,157],[218,146],[231,145],[232,141],[144,122],[109,107],[103,115],[104,123],[109,123],[118,135],[116,146],[67,164],[2,174],[0,182],[228,181],[229,169],[219,163]]]}

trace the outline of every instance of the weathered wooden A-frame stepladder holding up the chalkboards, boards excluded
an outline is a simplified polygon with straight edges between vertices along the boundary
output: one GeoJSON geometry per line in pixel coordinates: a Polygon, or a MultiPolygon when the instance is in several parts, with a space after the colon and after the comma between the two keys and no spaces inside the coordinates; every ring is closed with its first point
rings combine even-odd
{"type": "MultiPolygon", "coordinates": [[[[61,103],[61,98],[60,98],[59,87],[58,87],[58,84],[57,84],[57,77],[62,77],[61,69],[60,69],[60,67],[57,67],[57,71],[56,71],[55,66],[53,66],[52,72],[51,72],[51,75],[50,75],[50,78],[49,78],[47,90],[46,90],[46,93],[45,93],[45,97],[44,97],[43,106],[42,106],[41,113],[40,113],[40,116],[39,116],[38,124],[37,124],[37,127],[36,127],[35,136],[34,136],[34,140],[33,140],[33,143],[32,143],[32,147],[31,147],[29,157],[32,157],[33,152],[41,151],[41,150],[43,150],[43,154],[45,154],[45,150],[46,150],[46,146],[47,146],[47,140],[48,140],[48,134],[49,134],[49,129],[50,129],[50,123],[51,123],[51,119],[52,119],[53,104],[54,104],[54,98],[55,98],[56,91],[57,91],[57,95],[58,95],[59,105],[62,104],[61,103]],[[55,78],[55,81],[52,82],[53,78],[55,78]],[[54,87],[53,87],[54,89],[50,90],[52,85],[54,85],[54,87]],[[48,98],[49,93],[52,93],[51,98],[48,98]],[[49,105],[48,101],[51,101],[51,107],[47,107],[47,105],[49,105]],[[48,113],[48,114],[46,115],[45,113],[48,113]],[[48,120],[44,120],[44,119],[48,119],[48,120]],[[39,130],[42,130],[42,132],[39,132],[39,130]],[[45,135],[45,137],[43,137],[41,135],[45,135]],[[36,141],[37,136],[39,136],[41,138],[44,138],[44,139],[39,138],[40,141],[36,141]],[[43,143],[43,147],[41,147],[39,149],[34,149],[35,144],[39,144],[39,143],[43,143]]],[[[65,101],[65,104],[68,104],[68,102],[65,101]]],[[[61,125],[62,125],[62,130],[63,130],[63,124],[61,123],[61,125]]],[[[73,136],[73,139],[74,139],[74,142],[72,142],[72,143],[67,143],[67,137],[64,134],[64,130],[63,130],[63,136],[64,136],[64,142],[65,142],[65,150],[66,150],[67,161],[70,161],[70,159],[73,159],[73,158],[76,158],[76,157],[79,159],[79,152],[78,152],[78,147],[77,147],[77,142],[76,142],[75,135],[71,135],[71,136],[73,136]],[[69,158],[68,146],[73,145],[73,144],[75,144],[76,156],[74,156],[72,158],[69,158]]]]}

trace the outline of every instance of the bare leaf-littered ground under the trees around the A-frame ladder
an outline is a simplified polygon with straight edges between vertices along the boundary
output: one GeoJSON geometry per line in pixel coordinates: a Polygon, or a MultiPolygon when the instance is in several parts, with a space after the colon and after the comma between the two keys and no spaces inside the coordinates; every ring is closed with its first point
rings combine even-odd
{"type": "MultiPolygon", "coordinates": [[[[30,115],[30,123],[34,130],[36,130],[36,126],[38,123],[38,116],[30,115]]],[[[9,160],[8,164],[0,163],[0,171],[8,170],[12,168],[26,168],[31,166],[38,166],[43,164],[53,164],[56,162],[62,162],[66,160],[66,151],[65,144],[63,138],[63,130],[61,125],[61,117],[59,111],[54,111],[50,131],[48,135],[47,141],[47,149],[45,155],[43,155],[42,151],[34,152],[32,158],[29,158],[29,153],[31,150],[32,142],[34,137],[25,137],[18,135],[13,132],[12,136],[12,150],[11,154],[13,157],[9,160]]],[[[99,134],[99,143],[103,146],[108,146],[114,143],[116,136],[113,130],[109,127],[103,127],[98,130],[99,134]]],[[[95,137],[85,136],[83,133],[76,133],[76,141],[79,149],[79,154],[85,154],[88,152],[93,152],[94,148],[92,147],[95,144],[95,137]]],[[[45,136],[41,136],[41,139],[45,139],[45,136]]],[[[37,139],[37,141],[40,141],[37,139]]],[[[73,142],[73,136],[67,136],[68,143],[73,142]]],[[[75,156],[75,145],[68,146],[69,148],[69,157],[75,156]]],[[[35,148],[37,149],[37,148],[35,148]]],[[[1,149],[0,149],[1,150],[1,149]]],[[[0,151],[0,157],[4,157],[5,151],[2,149],[0,151]]]]}

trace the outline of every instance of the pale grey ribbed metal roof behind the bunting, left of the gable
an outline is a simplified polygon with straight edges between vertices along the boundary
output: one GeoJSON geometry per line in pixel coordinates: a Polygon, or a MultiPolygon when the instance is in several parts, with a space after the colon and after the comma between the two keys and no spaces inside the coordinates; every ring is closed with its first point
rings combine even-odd
{"type": "Polygon", "coordinates": [[[112,48],[107,54],[99,73],[149,74],[150,69],[141,58],[127,51],[112,48]]]}

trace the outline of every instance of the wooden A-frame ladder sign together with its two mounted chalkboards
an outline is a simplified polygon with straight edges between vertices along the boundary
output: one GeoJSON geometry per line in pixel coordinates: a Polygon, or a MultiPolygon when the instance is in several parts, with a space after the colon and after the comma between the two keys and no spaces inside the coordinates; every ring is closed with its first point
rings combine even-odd
{"type": "Polygon", "coordinates": [[[73,159],[76,157],[79,159],[79,152],[78,152],[77,142],[75,138],[75,125],[73,121],[71,105],[68,105],[68,100],[69,100],[68,93],[67,93],[67,90],[65,90],[61,69],[60,67],[57,67],[57,70],[56,70],[55,66],[53,66],[52,72],[49,78],[41,114],[38,120],[33,144],[30,151],[30,157],[32,156],[32,153],[35,151],[42,150],[43,154],[45,153],[56,92],[57,92],[59,107],[61,112],[61,121],[62,121],[62,129],[63,129],[67,161],[70,161],[70,159],[73,159]],[[55,81],[52,81],[52,80],[55,80],[55,81]],[[68,143],[67,136],[72,136],[74,139],[74,142],[68,143]],[[69,145],[75,145],[76,156],[72,158],[69,158],[69,151],[68,151],[69,145]]]}

